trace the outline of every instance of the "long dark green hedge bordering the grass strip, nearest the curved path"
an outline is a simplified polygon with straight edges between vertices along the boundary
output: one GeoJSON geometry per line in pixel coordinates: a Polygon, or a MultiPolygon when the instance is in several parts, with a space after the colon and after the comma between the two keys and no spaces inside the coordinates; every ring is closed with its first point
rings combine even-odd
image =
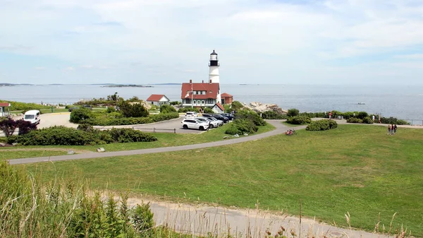
{"type": "Polygon", "coordinates": [[[53,126],[30,131],[18,136],[22,145],[99,145],[114,142],[147,142],[157,138],[133,129],[78,130],[65,126],[53,126]]]}

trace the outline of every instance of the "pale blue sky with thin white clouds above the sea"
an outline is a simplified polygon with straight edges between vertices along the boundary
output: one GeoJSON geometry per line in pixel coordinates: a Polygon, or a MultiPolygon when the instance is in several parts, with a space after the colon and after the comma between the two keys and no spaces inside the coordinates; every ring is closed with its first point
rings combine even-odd
{"type": "MultiPolygon", "coordinates": [[[[0,83],[423,83],[421,0],[0,0],[0,83]]],[[[394,90],[394,89],[393,89],[394,90]]]]}

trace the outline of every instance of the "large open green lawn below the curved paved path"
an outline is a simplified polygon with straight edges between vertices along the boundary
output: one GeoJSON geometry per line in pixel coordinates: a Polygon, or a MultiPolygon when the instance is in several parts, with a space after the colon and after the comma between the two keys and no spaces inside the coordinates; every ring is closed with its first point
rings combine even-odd
{"type": "MultiPolygon", "coordinates": [[[[259,207],[373,230],[381,224],[423,235],[423,130],[340,125],[259,141],[175,153],[26,165],[42,177],[85,176],[96,188],[259,207]]],[[[387,228],[388,229],[388,228],[387,228]]]]}

